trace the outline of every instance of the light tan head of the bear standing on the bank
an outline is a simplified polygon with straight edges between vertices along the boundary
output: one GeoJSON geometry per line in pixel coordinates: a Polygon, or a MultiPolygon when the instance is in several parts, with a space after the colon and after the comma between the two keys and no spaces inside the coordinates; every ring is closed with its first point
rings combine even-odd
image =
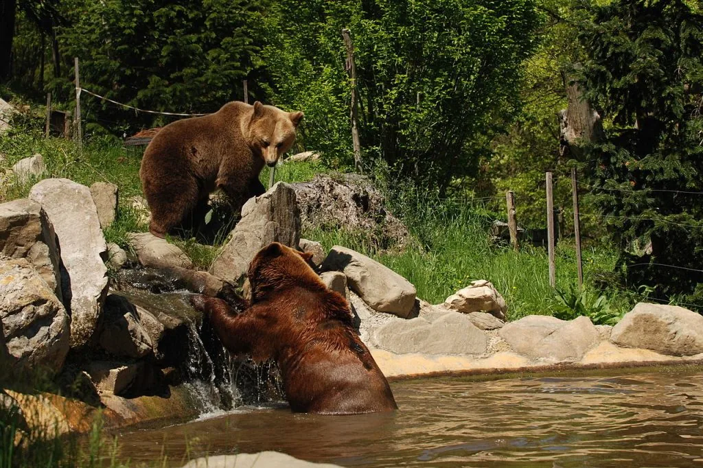
{"type": "Polygon", "coordinates": [[[285,112],[257,100],[249,122],[249,147],[266,165],[275,166],[278,158],[293,145],[295,129],[302,118],[302,112],[285,112]]]}

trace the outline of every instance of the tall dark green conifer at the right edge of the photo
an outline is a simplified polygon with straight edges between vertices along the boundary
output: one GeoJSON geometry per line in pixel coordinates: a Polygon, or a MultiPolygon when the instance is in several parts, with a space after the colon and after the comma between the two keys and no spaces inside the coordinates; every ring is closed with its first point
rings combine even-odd
{"type": "Polygon", "coordinates": [[[681,0],[587,11],[582,79],[610,125],[585,165],[618,271],[655,299],[703,307],[703,15],[681,0]]]}

